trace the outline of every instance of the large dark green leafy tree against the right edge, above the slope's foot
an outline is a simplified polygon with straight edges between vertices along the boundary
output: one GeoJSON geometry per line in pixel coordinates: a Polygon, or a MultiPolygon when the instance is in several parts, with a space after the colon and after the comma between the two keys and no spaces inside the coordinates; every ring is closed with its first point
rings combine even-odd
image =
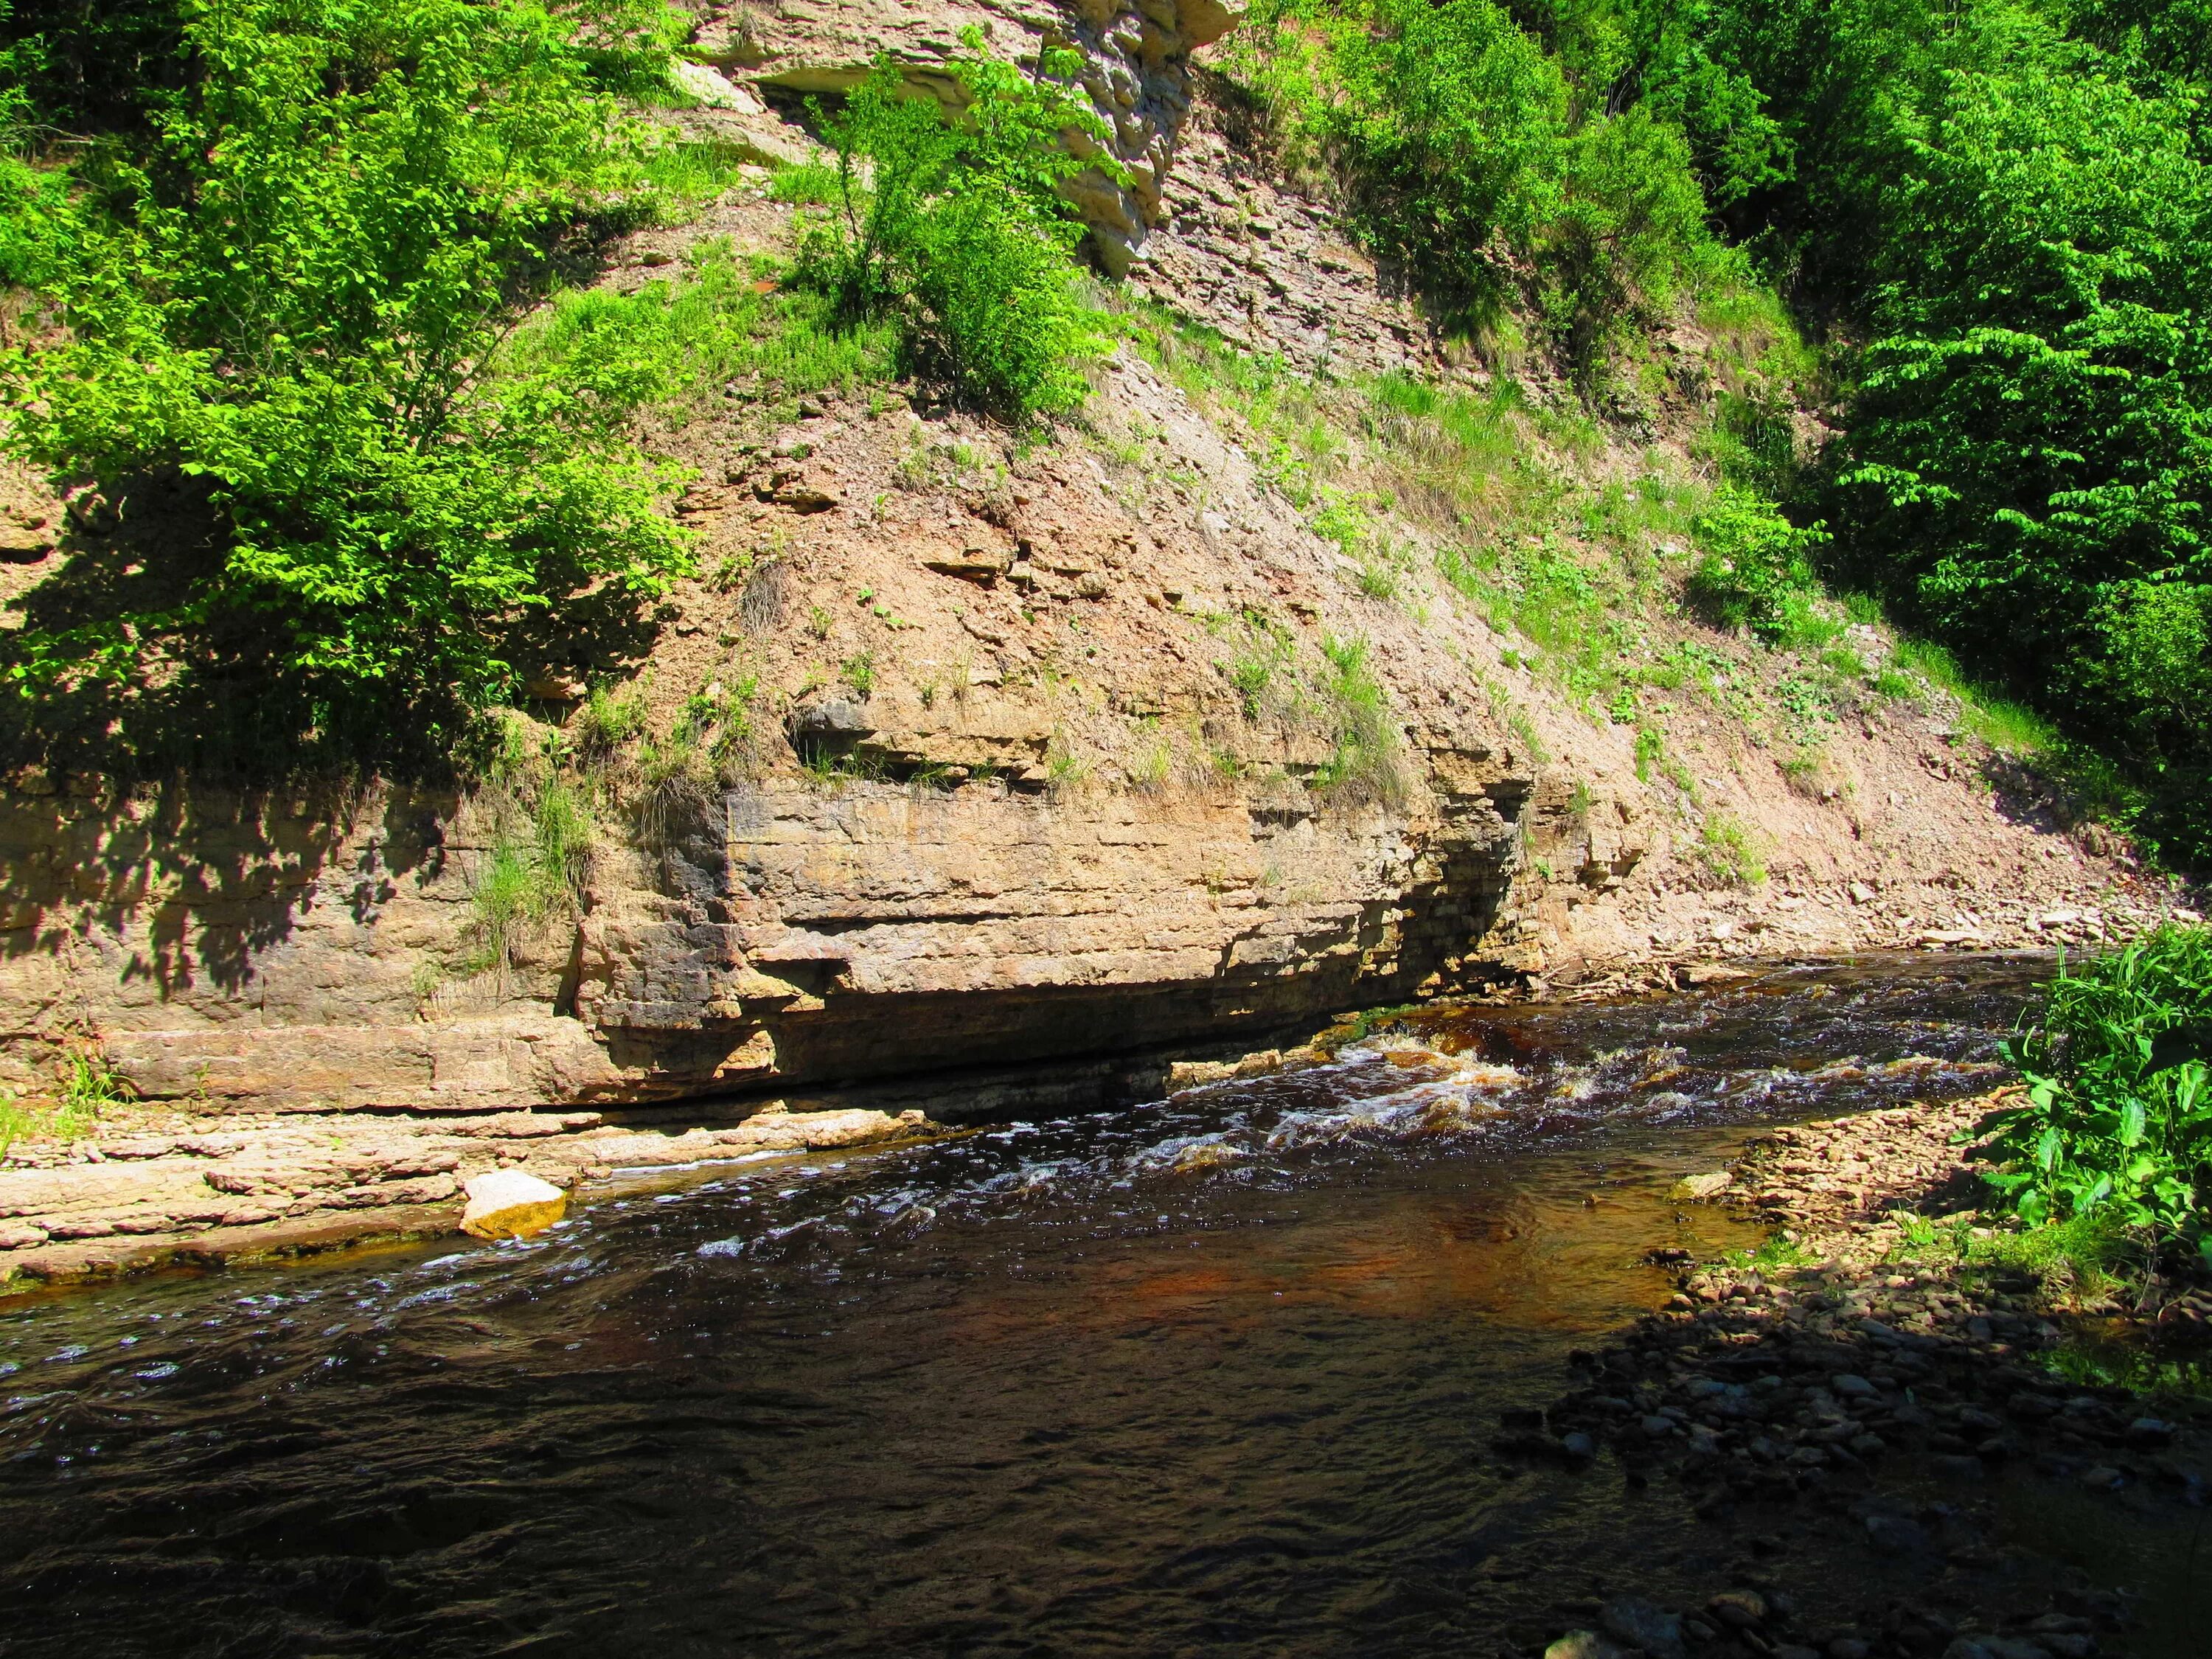
{"type": "Polygon", "coordinates": [[[1955,71],[1889,192],[1836,511],[1982,670],[2130,763],[2212,852],[2212,173],[2097,60],[1955,71]]]}

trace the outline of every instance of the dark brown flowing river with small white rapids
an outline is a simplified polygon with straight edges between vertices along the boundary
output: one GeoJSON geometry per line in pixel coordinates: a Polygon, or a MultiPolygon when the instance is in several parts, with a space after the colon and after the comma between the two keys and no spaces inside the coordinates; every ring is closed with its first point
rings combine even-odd
{"type": "Polygon", "coordinates": [[[1683,1172],[1986,1086],[2037,971],[1425,1013],[524,1245],[4,1301],[0,1652],[1460,1655],[1699,1584],[1668,1500],[1486,1464],[1498,1411],[1648,1250],[1754,1237],[1683,1172]]]}

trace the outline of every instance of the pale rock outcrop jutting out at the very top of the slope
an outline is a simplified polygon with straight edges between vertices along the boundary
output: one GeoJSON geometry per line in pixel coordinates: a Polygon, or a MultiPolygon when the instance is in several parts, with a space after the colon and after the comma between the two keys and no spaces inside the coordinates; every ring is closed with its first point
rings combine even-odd
{"type": "Polygon", "coordinates": [[[925,7],[783,0],[772,9],[710,18],[699,29],[699,49],[708,62],[750,77],[770,95],[843,93],[878,53],[889,53],[914,86],[956,106],[964,93],[942,64],[964,51],[960,38],[969,29],[980,29],[993,53],[1024,64],[1035,64],[1040,49],[1075,49],[1082,55],[1077,80],[1106,124],[1126,184],[1091,168],[1068,181],[1068,197],[1091,223],[1099,261],[1121,274],[1144,257],[1148,232],[1166,215],[1161,192],[1190,113],[1190,51],[1219,40],[1241,18],[1241,0],[940,0],[925,7]]]}

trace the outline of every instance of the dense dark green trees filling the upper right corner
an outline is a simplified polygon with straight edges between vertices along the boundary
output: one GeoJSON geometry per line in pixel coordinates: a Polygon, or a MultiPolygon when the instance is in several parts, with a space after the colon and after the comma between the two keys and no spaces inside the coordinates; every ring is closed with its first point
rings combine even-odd
{"type": "Polygon", "coordinates": [[[2199,4],[1719,0],[1787,170],[1730,212],[1863,345],[1832,560],[2097,748],[2212,858],[2199,4]]]}

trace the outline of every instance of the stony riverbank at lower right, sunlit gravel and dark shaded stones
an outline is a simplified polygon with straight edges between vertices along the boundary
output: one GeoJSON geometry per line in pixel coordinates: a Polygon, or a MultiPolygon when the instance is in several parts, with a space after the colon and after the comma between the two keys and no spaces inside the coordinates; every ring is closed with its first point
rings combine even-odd
{"type": "Polygon", "coordinates": [[[1774,1237],[1677,1263],[1668,1305],[1579,1354],[1548,1409],[1509,1413],[1493,1453],[1677,1486],[1741,1546],[1739,1571],[1697,1606],[1557,1608],[1548,1659],[2090,1659],[2174,1615],[2031,1546],[2013,1517],[2203,1506],[2212,1303],[1975,1210],[1973,1130],[2011,1095],[1772,1130],[1681,1183],[1683,1203],[1739,1206],[1774,1237]],[[2188,1367],[2194,1398],[2117,1380],[2179,1385],[2188,1367]],[[1838,1577],[1838,1548],[1867,1559],[1863,1582],[1838,1577]]]}

